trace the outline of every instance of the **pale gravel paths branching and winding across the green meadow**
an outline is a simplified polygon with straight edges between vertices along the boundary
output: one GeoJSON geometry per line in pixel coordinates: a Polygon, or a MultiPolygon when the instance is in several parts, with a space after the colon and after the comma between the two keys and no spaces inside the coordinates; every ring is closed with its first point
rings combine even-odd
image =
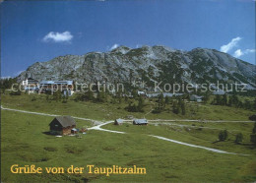
{"type": "MultiPolygon", "coordinates": [[[[35,114],[35,115],[43,115],[43,116],[59,116],[56,114],[47,114],[47,113],[41,113],[41,112],[31,112],[31,111],[26,111],[26,110],[18,110],[18,109],[11,109],[11,108],[5,108],[3,106],[1,106],[1,109],[3,110],[10,110],[10,111],[15,111],[15,112],[22,112],[22,113],[28,113],[28,114],[35,114]]],[[[96,121],[93,119],[89,119],[89,118],[82,118],[82,117],[76,117],[76,116],[72,116],[73,118],[76,119],[80,119],[80,120],[86,120],[86,121],[92,121],[94,124],[97,124],[94,127],[88,128],[88,130],[98,130],[98,131],[104,131],[104,132],[109,132],[109,133],[116,133],[116,134],[127,134],[126,132],[120,132],[120,131],[113,131],[113,130],[107,130],[107,129],[103,129],[101,128],[104,125],[110,124],[113,122],[113,120],[111,121],[107,121],[107,122],[102,122],[102,121],[96,121]]],[[[130,122],[132,120],[124,120],[125,122],[130,122]]],[[[200,120],[149,120],[152,122],[157,122],[157,121],[197,121],[200,122],[200,120]]],[[[211,121],[211,122],[215,122],[215,121],[211,121]]],[[[250,122],[250,121],[216,121],[216,122],[250,122]]],[[[171,143],[175,143],[178,145],[183,145],[183,146],[187,146],[187,147],[192,147],[192,148],[198,148],[198,149],[203,149],[203,150],[207,150],[210,152],[218,152],[218,153],[229,153],[229,154],[239,154],[239,155],[249,155],[249,154],[242,154],[242,153],[235,153],[235,152],[224,152],[221,150],[217,150],[217,149],[212,149],[212,148],[207,148],[207,147],[202,147],[202,146],[197,146],[197,145],[192,145],[192,144],[188,144],[188,143],[183,143],[180,141],[175,141],[172,139],[168,139],[168,138],[164,138],[164,137],[160,137],[160,136],[155,136],[155,135],[148,135],[150,137],[154,137],[163,141],[168,141],[171,143]]]]}

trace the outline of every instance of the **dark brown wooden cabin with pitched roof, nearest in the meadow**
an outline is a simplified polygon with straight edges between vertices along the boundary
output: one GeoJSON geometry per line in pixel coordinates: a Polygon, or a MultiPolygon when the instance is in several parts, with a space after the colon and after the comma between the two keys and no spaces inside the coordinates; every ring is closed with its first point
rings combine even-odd
{"type": "Polygon", "coordinates": [[[57,116],[49,124],[50,133],[54,135],[69,135],[76,129],[76,121],[71,116],[57,116]]]}

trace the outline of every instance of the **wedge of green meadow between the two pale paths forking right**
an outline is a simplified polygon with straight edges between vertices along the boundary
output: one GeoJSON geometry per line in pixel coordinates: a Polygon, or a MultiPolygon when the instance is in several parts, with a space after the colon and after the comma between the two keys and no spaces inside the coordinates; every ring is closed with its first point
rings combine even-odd
{"type": "Polygon", "coordinates": [[[151,122],[149,126],[136,126],[125,123],[120,126],[108,124],[102,128],[127,132],[129,134],[156,135],[226,152],[246,154],[256,153],[256,150],[254,150],[251,145],[249,138],[254,125],[253,123],[195,124],[191,122],[183,122],[186,126],[178,126],[182,124],[180,122],[170,124],[171,125],[166,124],[156,126],[151,122]],[[219,133],[224,129],[228,132],[228,140],[225,142],[219,142],[219,133]],[[237,133],[242,133],[244,136],[243,142],[240,145],[236,145],[234,143],[235,135],[237,133]]]}

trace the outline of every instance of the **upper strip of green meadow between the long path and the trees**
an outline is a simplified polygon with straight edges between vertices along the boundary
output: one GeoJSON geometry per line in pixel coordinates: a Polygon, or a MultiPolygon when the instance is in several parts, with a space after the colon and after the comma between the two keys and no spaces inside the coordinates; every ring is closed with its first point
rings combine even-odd
{"type": "Polygon", "coordinates": [[[128,102],[124,99],[121,102],[92,102],[75,101],[70,97],[67,103],[54,100],[46,100],[45,94],[22,94],[22,95],[2,95],[2,105],[4,107],[45,112],[50,114],[72,115],[78,117],[92,118],[96,120],[111,120],[115,118],[126,118],[127,115],[148,119],[208,119],[208,120],[248,120],[248,116],[255,111],[241,108],[187,103],[186,115],[174,114],[171,111],[171,104],[165,106],[165,110],[159,114],[151,113],[156,102],[155,99],[146,99],[144,112],[128,112],[124,108],[128,102]]]}

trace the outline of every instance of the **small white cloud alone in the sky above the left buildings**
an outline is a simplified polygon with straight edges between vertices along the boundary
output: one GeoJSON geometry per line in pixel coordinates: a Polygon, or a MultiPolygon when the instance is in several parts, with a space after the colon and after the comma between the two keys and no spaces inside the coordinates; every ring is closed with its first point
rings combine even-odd
{"type": "Polygon", "coordinates": [[[50,31],[42,38],[42,40],[45,42],[48,42],[48,41],[70,42],[72,38],[73,38],[73,35],[70,33],[70,31],[64,31],[64,32],[50,31]]]}

